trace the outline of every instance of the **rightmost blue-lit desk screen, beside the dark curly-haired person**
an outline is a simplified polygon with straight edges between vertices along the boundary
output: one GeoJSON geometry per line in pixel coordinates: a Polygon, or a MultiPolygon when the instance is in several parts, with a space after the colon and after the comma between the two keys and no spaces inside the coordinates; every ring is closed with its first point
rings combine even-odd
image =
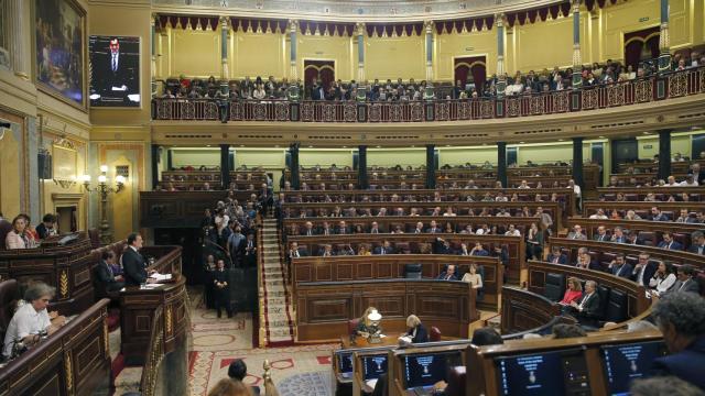
{"type": "Polygon", "coordinates": [[[636,342],[600,348],[608,395],[629,395],[629,386],[644,376],[657,358],[666,354],[662,341],[636,342]]]}

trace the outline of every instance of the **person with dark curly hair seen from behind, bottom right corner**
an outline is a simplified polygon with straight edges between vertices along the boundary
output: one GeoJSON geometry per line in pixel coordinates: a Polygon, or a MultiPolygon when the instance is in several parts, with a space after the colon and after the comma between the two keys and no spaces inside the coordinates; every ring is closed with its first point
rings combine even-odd
{"type": "Polygon", "coordinates": [[[675,375],[705,391],[705,299],[675,292],[663,296],[651,315],[670,352],[653,362],[653,374],[675,375]]]}

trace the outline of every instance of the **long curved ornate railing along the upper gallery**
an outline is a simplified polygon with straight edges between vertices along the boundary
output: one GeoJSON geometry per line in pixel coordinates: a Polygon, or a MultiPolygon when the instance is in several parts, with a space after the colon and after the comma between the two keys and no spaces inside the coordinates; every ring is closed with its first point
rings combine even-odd
{"type": "Polygon", "coordinates": [[[575,90],[431,101],[152,100],[154,120],[433,122],[556,114],[705,94],[705,67],[575,90]]]}

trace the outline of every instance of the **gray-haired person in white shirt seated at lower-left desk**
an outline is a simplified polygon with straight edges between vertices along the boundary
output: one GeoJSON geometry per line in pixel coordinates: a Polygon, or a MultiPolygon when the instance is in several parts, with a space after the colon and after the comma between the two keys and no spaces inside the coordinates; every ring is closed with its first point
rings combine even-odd
{"type": "Polygon", "coordinates": [[[14,312],[4,334],[2,348],[4,359],[12,356],[12,349],[17,342],[25,345],[34,344],[41,340],[42,334],[51,336],[66,323],[66,318],[57,316],[56,312],[50,315],[46,310],[55,293],[56,288],[42,282],[33,283],[28,287],[24,292],[26,304],[14,312]]]}

